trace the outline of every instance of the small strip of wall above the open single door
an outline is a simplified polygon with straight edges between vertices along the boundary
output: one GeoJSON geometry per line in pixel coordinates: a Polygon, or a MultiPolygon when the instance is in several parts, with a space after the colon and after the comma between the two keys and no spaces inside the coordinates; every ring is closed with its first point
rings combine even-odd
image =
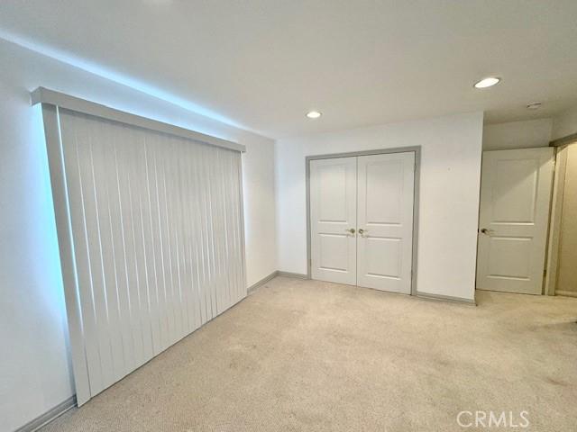
{"type": "Polygon", "coordinates": [[[483,150],[548,147],[553,119],[510,121],[483,128],[483,150]]]}

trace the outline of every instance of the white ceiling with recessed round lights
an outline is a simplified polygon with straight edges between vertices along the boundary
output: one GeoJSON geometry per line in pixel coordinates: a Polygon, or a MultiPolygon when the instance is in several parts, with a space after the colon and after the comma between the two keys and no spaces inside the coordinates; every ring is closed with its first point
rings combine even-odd
{"type": "Polygon", "coordinates": [[[575,0],[3,0],[0,29],[272,138],[577,103],[575,0]]]}

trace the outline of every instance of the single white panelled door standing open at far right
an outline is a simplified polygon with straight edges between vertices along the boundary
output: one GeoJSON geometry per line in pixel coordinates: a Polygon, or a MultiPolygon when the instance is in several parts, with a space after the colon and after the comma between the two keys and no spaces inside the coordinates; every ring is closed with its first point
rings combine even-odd
{"type": "Polygon", "coordinates": [[[540,294],[553,148],[485,151],[477,289],[540,294]]]}

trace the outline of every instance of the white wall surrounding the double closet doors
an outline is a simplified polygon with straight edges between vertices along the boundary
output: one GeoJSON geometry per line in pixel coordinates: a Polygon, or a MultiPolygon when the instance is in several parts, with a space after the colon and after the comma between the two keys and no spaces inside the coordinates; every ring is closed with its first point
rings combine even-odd
{"type": "Polygon", "coordinates": [[[307,273],[305,157],[422,146],[417,290],[474,298],[481,112],[279,139],[279,270],[307,273]]]}

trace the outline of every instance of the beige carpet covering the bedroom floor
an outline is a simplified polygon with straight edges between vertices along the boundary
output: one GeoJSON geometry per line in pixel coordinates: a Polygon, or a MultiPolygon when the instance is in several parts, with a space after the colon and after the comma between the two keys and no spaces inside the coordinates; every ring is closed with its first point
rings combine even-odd
{"type": "Polygon", "coordinates": [[[577,299],[477,301],[278,277],[41,430],[482,430],[462,410],[577,430],[577,299]]]}

